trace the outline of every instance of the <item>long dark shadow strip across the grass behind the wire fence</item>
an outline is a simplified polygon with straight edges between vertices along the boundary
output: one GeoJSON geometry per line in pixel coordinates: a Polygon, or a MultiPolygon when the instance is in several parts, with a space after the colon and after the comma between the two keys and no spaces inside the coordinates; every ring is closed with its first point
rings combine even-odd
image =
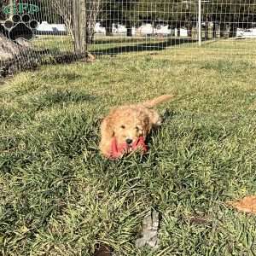
{"type": "MultiPolygon", "coordinates": [[[[166,49],[167,47],[172,47],[172,46],[181,45],[181,44],[192,44],[195,42],[197,42],[197,40],[193,40],[191,38],[169,38],[168,40],[163,42],[124,45],[124,46],[122,45],[122,46],[116,46],[116,47],[111,47],[107,49],[95,49],[90,52],[95,55],[118,55],[121,53],[128,53],[128,52],[163,50],[163,49],[166,49]]],[[[109,44],[111,44],[111,42],[109,42],[109,44]]],[[[124,44],[124,43],[120,42],[120,44],[124,44]]]]}

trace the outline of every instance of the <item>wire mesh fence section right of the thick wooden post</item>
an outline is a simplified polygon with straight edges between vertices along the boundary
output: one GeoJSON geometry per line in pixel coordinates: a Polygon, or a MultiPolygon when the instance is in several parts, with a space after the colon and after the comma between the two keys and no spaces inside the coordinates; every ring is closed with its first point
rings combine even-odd
{"type": "Polygon", "coordinates": [[[90,23],[90,49],[103,55],[199,46],[243,50],[256,37],[255,7],[241,0],[105,0],[90,23]]]}

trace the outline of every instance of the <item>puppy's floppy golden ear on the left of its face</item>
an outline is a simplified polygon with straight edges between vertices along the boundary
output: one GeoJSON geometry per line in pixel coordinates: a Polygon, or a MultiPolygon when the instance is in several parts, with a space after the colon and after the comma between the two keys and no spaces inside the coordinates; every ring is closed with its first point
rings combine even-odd
{"type": "Polygon", "coordinates": [[[114,136],[113,120],[109,116],[102,121],[101,136],[100,149],[102,154],[108,156],[111,151],[111,143],[114,136]]]}

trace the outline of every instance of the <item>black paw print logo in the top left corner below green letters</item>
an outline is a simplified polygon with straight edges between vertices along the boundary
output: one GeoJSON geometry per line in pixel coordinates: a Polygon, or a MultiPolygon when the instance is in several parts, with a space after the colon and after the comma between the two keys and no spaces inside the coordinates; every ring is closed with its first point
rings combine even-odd
{"type": "Polygon", "coordinates": [[[9,20],[5,20],[3,26],[11,40],[16,40],[17,38],[30,40],[33,38],[34,32],[38,27],[38,21],[32,20],[28,14],[15,14],[9,20]]]}

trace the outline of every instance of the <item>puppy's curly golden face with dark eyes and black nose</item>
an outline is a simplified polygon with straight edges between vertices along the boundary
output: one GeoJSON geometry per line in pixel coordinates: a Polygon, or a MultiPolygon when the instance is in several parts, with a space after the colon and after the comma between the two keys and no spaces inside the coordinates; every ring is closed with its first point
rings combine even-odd
{"type": "Polygon", "coordinates": [[[148,116],[140,112],[123,111],[113,125],[114,137],[118,143],[131,145],[138,137],[146,137],[149,131],[148,116]]]}

